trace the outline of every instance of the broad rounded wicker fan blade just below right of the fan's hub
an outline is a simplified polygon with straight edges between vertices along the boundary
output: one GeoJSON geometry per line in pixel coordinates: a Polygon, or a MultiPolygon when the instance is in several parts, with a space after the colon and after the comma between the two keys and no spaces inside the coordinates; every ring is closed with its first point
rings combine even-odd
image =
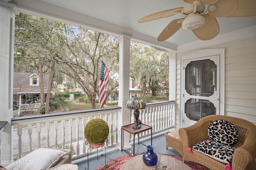
{"type": "Polygon", "coordinates": [[[203,15],[205,21],[202,27],[193,29],[193,33],[201,40],[213,39],[220,32],[220,27],[216,18],[212,18],[209,14],[203,15]]]}

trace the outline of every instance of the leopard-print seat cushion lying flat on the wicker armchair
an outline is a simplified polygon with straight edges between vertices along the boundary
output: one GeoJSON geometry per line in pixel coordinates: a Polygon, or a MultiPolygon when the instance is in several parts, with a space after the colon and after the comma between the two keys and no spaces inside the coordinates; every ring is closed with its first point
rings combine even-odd
{"type": "Polygon", "coordinates": [[[234,150],[236,148],[214,140],[205,140],[194,145],[192,149],[206,156],[210,156],[224,164],[231,164],[234,150]]]}

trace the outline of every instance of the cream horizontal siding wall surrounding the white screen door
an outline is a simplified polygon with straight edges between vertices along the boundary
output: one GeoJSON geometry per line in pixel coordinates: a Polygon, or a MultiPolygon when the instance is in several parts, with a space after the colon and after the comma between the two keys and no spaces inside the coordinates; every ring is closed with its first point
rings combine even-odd
{"type": "MultiPolygon", "coordinates": [[[[201,49],[225,48],[225,115],[256,125],[256,37],[230,41],[201,49]]],[[[176,124],[180,127],[180,57],[176,54],[176,124]]]]}

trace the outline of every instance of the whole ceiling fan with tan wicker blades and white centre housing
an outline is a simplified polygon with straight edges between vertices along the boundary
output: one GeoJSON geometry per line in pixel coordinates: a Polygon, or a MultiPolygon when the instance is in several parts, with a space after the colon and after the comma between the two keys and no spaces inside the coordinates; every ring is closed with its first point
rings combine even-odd
{"type": "Polygon", "coordinates": [[[213,39],[220,32],[216,17],[256,16],[256,0],[184,0],[180,8],[150,14],[138,20],[139,23],[181,14],[182,18],[172,20],[158,35],[157,41],[165,41],[181,27],[190,29],[201,40],[213,39]],[[208,8],[205,10],[205,6],[208,8]]]}

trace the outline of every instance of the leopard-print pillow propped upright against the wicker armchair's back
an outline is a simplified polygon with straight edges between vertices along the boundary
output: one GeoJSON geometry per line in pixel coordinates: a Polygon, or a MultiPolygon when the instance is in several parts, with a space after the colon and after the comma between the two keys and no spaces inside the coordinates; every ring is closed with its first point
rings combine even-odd
{"type": "Polygon", "coordinates": [[[229,121],[222,119],[213,121],[207,130],[209,138],[216,142],[231,146],[238,142],[238,131],[229,121]]]}

